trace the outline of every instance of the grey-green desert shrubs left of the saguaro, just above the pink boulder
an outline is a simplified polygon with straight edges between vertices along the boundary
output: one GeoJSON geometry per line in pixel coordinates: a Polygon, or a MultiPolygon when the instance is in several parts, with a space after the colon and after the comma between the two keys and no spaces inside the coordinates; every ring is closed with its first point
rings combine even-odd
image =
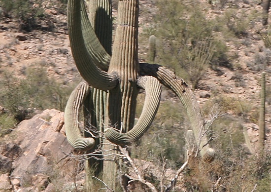
{"type": "Polygon", "coordinates": [[[5,72],[0,78],[0,105],[18,120],[30,118],[34,110],[64,111],[73,85],[49,78],[44,68],[27,69],[25,78],[5,72]]]}

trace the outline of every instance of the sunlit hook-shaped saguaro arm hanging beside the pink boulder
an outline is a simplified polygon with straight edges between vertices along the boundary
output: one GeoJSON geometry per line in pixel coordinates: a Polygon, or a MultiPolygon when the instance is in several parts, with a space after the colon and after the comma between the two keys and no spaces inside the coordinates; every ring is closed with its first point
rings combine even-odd
{"type": "Polygon", "coordinates": [[[93,138],[84,138],[78,127],[78,113],[84,99],[89,94],[90,86],[86,82],[80,82],[69,96],[65,108],[65,131],[68,142],[76,150],[89,150],[94,147],[93,138]]]}

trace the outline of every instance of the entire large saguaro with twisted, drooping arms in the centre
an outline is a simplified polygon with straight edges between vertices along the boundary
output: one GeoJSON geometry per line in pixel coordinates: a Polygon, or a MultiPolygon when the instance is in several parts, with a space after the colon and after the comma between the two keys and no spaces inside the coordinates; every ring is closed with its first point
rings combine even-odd
{"type": "MultiPolygon", "coordinates": [[[[129,145],[136,141],[146,132],[156,115],[161,84],[164,84],[183,103],[203,159],[206,159],[204,156],[213,156],[214,151],[209,147],[207,138],[202,136],[203,116],[189,86],[160,65],[138,63],[138,0],[119,0],[111,56],[109,44],[112,32],[110,27],[101,22],[110,23],[110,2],[111,0],[91,0],[89,20],[82,0],[68,0],[71,51],[78,71],[85,80],[71,93],[65,109],[66,134],[70,144],[77,150],[92,152],[101,143],[129,145]],[[145,90],[145,102],[134,125],[139,89],[145,90]],[[84,107],[85,126],[92,134],[81,134],[78,126],[80,106],[84,107]],[[101,137],[95,137],[99,134],[101,137]]],[[[112,147],[102,145],[102,148],[106,154],[112,147]]],[[[110,188],[114,188],[115,163],[102,160],[95,163],[100,165],[96,167],[102,170],[102,180],[110,188]]],[[[88,161],[87,171],[91,166],[92,161],[88,161]]],[[[91,177],[88,174],[87,180],[87,191],[91,191],[91,177]]]]}

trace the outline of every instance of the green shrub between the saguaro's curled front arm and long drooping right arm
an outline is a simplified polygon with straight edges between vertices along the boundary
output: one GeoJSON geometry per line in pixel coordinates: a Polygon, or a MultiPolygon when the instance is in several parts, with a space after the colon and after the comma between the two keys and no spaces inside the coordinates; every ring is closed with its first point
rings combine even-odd
{"type": "Polygon", "coordinates": [[[176,167],[183,163],[184,155],[184,114],[180,103],[164,101],[148,130],[137,146],[133,149],[134,157],[162,163],[168,159],[169,167],[176,167]],[[138,145],[140,144],[140,145],[138,145]]]}

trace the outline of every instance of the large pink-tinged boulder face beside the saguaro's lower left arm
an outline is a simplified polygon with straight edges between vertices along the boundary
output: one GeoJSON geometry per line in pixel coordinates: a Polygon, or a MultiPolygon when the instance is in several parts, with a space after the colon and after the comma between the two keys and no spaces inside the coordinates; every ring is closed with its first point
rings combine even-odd
{"type": "MultiPolygon", "coordinates": [[[[70,171],[76,163],[66,154],[74,149],[65,134],[58,132],[60,124],[63,124],[63,115],[55,109],[45,110],[32,119],[22,121],[13,131],[16,138],[14,144],[20,146],[22,153],[13,161],[11,176],[20,177],[22,187],[36,185],[33,178],[40,175],[45,178],[41,178],[41,183],[45,184],[46,178],[56,174],[65,179],[71,177],[70,171]]],[[[40,181],[40,177],[37,180],[40,181]]]]}

